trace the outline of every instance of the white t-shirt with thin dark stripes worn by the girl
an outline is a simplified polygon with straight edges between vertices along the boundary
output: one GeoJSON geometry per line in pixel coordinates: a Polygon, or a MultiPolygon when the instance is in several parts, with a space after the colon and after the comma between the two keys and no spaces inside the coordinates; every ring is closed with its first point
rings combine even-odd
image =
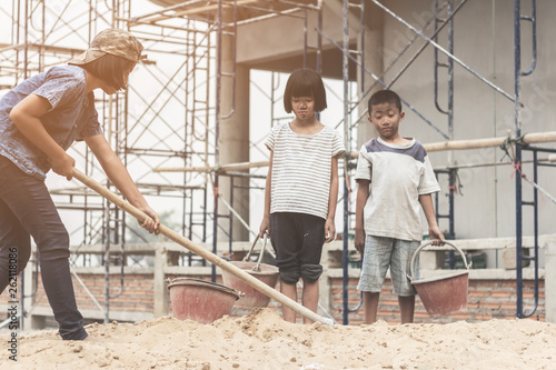
{"type": "Polygon", "coordinates": [[[325,127],[314,134],[300,134],[289,123],[281,123],[265,144],[274,152],[270,213],[308,213],[326,220],[332,157],[346,152],[339,133],[325,127]]]}

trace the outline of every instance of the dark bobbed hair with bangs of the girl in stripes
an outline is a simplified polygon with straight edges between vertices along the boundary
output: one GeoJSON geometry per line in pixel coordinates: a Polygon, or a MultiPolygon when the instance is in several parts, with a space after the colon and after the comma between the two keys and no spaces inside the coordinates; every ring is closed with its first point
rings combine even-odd
{"type": "Polygon", "coordinates": [[[312,97],[315,99],[315,111],[321,112],[326,109],[326,90],[320,74],[312,69],[296,69],[286,83],[284,92],[284,108],[291,113],[291,98],[312,97]]]}

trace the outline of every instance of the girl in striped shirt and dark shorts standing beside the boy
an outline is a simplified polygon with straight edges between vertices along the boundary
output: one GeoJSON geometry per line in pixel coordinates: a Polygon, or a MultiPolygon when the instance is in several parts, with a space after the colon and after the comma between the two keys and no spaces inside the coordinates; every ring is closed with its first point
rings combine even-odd
{"type": "MultiPolygon", "coordinates": [[[[272,128],[265,142],[270,164],[259,230],[260,237],[268,233],[276,251],[280,291],[297,301],[296,284],[301,278],[301,303],[314,312],[322,244],[336,237],[338,158],[346,152],[339,133],[316,117],[326,107],[320,76],[306,68],[295,70],[286,84],[284,108],[296,118],[272,128]]],[[[296,322],[294,310],[282,307],[282,314],[296,322]]]]}

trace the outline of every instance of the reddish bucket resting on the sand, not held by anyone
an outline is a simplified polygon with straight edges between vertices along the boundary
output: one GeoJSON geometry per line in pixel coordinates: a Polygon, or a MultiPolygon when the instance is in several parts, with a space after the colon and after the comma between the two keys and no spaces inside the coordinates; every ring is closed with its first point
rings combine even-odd
{"type": "Polygon", "coordinates": [[[173,317],[211,323],[230,313],[240,293],[222,284],[192,278],[177,278],[169,282],[173,317]]]}

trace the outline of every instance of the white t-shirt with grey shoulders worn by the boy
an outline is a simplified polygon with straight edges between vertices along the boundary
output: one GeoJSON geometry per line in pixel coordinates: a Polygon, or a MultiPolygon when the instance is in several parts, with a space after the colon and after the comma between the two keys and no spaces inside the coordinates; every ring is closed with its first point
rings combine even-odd
{"type": "Polygon", "coordinates": [[[400,240],[423,239],[419,196],[440,190],[425,148],[411,139],[393,144],[380,138],[359,151],[356,180],[369,180],[365,233],[400,240]]]}

